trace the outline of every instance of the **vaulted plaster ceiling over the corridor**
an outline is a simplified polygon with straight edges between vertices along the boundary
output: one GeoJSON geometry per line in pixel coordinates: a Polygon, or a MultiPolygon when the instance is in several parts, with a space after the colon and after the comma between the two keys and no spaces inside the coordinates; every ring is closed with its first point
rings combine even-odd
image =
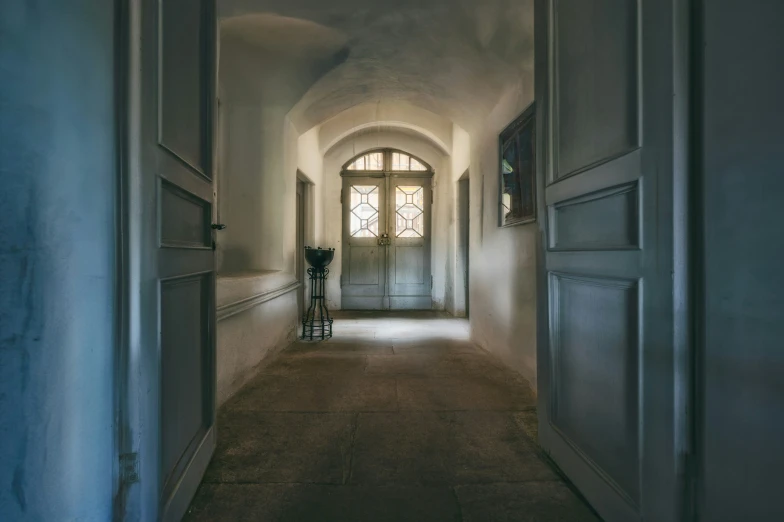
{"type": "Polygon", "coordinates": [[[382,100],[405,100],[472,128],[508,89],[533,85],[533,0],[218,3],[222,30],[233,26],[265,52],[296,60],[330,49],[326,72],[291,111],[300,132],[382,100]],[[285,27],[270,25],[276,17],[285,27]]]}

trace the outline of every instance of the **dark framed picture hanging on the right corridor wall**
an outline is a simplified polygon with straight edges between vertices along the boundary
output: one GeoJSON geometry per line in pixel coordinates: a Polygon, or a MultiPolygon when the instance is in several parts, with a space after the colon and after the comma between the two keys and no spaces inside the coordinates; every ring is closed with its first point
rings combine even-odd
{"type": "Polygon", "coordinates": [[[536,221],[536,111],[532,103],[499,138],[498,226],[536,221]]]}

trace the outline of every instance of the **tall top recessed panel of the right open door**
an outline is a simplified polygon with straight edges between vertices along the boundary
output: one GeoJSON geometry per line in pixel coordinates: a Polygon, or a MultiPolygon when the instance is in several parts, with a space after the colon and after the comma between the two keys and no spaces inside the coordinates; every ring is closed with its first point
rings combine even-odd
{"type": "Polygon", "coordinates": [[[632,0],[554,5],[552,179],[560,179],[637,148],[638,25],[632,0]]]}

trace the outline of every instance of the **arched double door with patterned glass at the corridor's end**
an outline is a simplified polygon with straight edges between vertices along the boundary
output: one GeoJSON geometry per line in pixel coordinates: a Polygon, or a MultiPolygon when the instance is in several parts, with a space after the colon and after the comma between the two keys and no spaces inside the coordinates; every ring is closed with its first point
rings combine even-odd
{"type": "Polygon", "coordinates": [[[429,310],[433,170],[385,149],[354,158],[341,176],[342,308],[429,310]]]}

